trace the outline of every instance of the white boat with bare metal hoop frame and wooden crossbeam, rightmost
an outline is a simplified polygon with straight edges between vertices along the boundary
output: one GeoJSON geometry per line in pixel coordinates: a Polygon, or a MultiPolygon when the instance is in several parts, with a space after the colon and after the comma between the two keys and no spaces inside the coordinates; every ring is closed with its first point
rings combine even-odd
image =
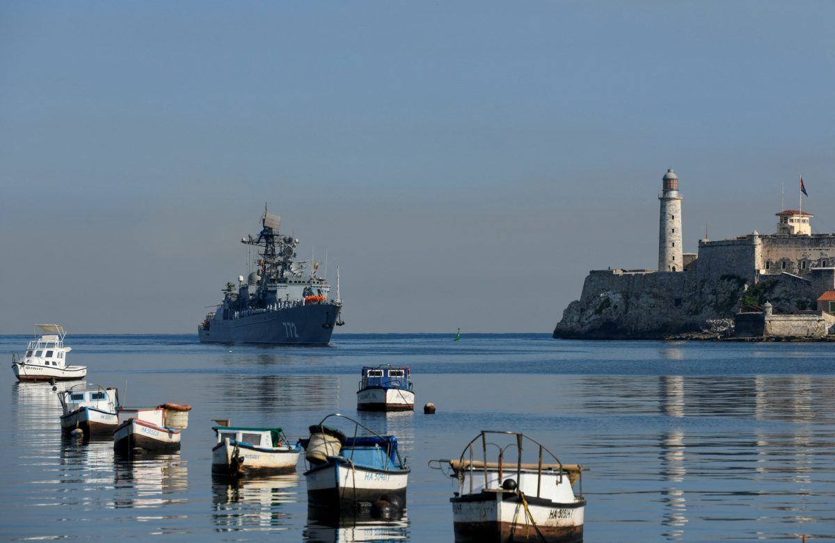
{"type": "Polygon", "coordinates": [[[448,467],[458,480],[458,492],[450,498],[456,541],[583,540],[582,475],[588,468],[563,464],[527,435],[484,430],[458,459],[430,460],[429,466],[448,467]],[[533,463],[523,461],[525,445],[533,463]],[[488,450],[493,448],[498,457],[490,460],[488,450]],[[481,460],[474,458],[478,456],[481,460]]]}

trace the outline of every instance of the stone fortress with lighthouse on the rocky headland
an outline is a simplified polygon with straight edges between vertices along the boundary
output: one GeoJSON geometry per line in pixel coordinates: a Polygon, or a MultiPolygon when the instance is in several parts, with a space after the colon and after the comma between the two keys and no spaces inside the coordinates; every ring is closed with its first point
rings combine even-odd
{"type": "Polygon", "coordinates": [[[835,333],[835,234],[812,234],[812,214],[787,209],[775,234],[701,239],[698,254],[684,253],[678,176],[667,170],[662,183],[658,269],[590,271],[554,338],[835,333]]]}

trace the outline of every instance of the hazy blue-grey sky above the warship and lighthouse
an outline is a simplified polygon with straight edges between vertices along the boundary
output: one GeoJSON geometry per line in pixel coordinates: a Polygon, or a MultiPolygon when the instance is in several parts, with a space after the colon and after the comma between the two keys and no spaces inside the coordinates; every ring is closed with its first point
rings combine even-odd
{"type": "Polygon", "coordinates": [[[0,0],[0,334],[181,334],[265,204],[338,333],[549,333],[590,269],[835,232],[835,3],[0,0]],[[783,196],[783,193],[785,196],[783,196]],[[321,271],[323,271],[321,269],[321,271]]]}

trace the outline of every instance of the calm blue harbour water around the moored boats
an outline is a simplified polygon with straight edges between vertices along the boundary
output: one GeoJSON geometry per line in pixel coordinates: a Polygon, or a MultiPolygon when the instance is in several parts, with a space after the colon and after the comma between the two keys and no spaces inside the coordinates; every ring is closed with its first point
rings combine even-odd
{"type": "MultiPolygon", "coordinates": [[[[0,352],[28,336],[0,336],[0,352]]],[[[832,344],[584,342],[544,334],[336,335],[326,348],[203,345],[195,335],[68,336],[88,382],[127,405],[193,405],[179,454],[114,458],[62,439],[49,385],[0,410],[4,540],[452,541],[453,483],[427,467],[479,430],[524,431],[584,475],[585,540],[835,540],[832,344]],[[362,365],[408,365],[436,415],[357,414],[362,365]],[[301,476],[210,475],[213,418],[301,436],[342,412],[397,435],[404,519],[319,525],[301,476]]],[[[10,363],[10,359],[8,359],[10,363]]],[[[58,385],[63,386],[63,385],[58,385]]]]}

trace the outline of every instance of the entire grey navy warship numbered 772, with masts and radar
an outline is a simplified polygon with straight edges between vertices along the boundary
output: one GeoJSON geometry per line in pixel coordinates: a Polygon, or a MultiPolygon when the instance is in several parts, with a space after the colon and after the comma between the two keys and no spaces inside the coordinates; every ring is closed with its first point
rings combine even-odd
{"type": "Polygon", "coordinates": [[[339,317],[337,299],[328,299],[331,285],[316,277],[317,265],[296,260],[298,239],[279,234],[281,217],[261,217],[261,234],[240,240],[258,247],[257,269],[238,285],[227,283],[223,302],[197,326],[201,343],[321,344],[331,341],[339,317]]]}

